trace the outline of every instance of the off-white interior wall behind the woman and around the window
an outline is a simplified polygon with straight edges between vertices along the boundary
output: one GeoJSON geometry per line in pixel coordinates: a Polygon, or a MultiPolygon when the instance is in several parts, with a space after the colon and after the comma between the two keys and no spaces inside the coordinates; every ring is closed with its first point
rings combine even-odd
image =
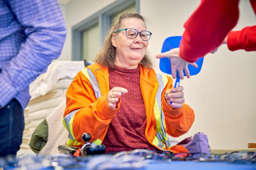
{"type": "MultiPolygon", "coordinates": [[[[114,0],[73,0],[65,5],[67,39],[61,60],[71,60],[71,28],[108,6],[114,0]]],[[[182,35],[183,24],[200,0],[140,0],[140,13],[147,19],[152,37],[148,50],[153,58],[169,36],[182,35]]],[[[239,4],[239,22],[233,30],[256,23],[249,0],[239,4]]],[[[210,10],[210,9],[209,9],[210,10]]],[[[198,28],[200,29],[200,28],[198,28]]],[[[161,72],[155,60],[155,70],[161,72]]],[[[229,51],[222,45],[215,54],[207,54],[201,72],[181,80],[186,103],[195,111],[192,128],[180,139],[198,131],[207,134],[212,149],[246,149],[256,142],[256,52],[229,51]]]]}

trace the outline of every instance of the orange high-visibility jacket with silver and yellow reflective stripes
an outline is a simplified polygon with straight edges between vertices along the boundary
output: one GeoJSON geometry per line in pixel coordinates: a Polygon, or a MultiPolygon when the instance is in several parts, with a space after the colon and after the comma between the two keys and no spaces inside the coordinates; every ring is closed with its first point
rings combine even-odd
{"type": "MultiPolygon", "coordinates": [[[[181,108],[172,109],[164,99],[165,91],[173,88],[172,78],[156,74],[153,68],[139,67],[140,88],[147,116],[145,136],[154,147],[170,150],[172,146],[168,135],[178,137],[186,133],[194,122],[194,111],[185,103],[181,108]]],[[[63,124],[69,131],[67,144],[81,147],[84,144],[81,135],[85,132],[90,133],[92,144],[102,144],[108,125],[122,102],[119,99],[116,109],[110,109],[107,103],[109,91],[107,67],[92,64],[79,71],[66,94],[63,124]]],[[[187,151],[184,147],[175,148],[187,151]]]]}

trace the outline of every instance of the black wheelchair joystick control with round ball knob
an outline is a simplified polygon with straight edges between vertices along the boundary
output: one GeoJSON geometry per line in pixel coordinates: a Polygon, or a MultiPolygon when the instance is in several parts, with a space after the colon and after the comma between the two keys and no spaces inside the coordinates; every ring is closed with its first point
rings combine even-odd
{"type": "Polygon", "coordinates": [[[85,142],[84,146],[81,148],[81,156],[86,155],[96,155],[106,153],[105,145],[91,144],[89,141],[92,139],[90,133],[83,133],[81,136],[82,141],[85,142]]]}

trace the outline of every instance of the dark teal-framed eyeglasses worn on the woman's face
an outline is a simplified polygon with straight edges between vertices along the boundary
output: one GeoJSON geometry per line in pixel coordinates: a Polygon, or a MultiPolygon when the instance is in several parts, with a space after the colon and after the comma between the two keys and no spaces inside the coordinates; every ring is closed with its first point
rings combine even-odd
{"type": "Polygon", "coordinates": [[[148,40],[150,39],[150,37],[151,37],[151,34],[152,34],[152,33],[149,32],[149,31],[141,31],[141,32],[139,32],[139,31],[137,31],[137,30],[134,29],[134,28],[120,29],[120,30],[115,31],[114,33],[117,33],[117,32],[119,32],[119,31],[123,31],[123,30],[126,31],[126,36],[127,36],[128,38],[131,38],[131,39],[136,38],[137,35],[140,33],[140,37],[141,37],[141,39],[142,39],[143,41],[148,41],[148,40]]]}

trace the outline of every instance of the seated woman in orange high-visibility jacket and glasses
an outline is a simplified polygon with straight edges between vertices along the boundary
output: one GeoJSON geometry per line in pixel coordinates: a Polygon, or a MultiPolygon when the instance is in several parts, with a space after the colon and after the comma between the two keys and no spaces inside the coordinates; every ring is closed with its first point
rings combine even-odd
{"type": "Polygon", "coordinates": [[[192,126],[193,110],[184,103],[183,87],[156,74],[146,50],[151,32],[137,13],[121,14],[110,29],[95,64],[82,69],[67,90],[64,126],[67,144],[81,147],[81,135],[106,152],[134,149],[188,152],[171,146],[192,126]],[[172,104],[171,104],[172,102],[172,104]]]}

